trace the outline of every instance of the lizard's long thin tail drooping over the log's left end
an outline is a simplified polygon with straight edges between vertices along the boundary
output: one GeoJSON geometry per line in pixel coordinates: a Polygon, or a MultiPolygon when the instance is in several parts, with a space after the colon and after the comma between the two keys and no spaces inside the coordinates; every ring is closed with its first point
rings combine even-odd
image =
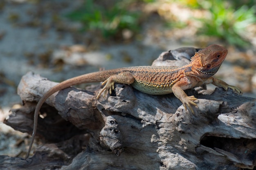
{"type": "Polygon", "coordinates": [[[115,70],[107,70],[107,71],[99,71],[99,72],[94,72],[94,73],[88,73],[88,74],[84,74],[84,75],[80,75],[77,77],[73,77],[71,79],[67,79],[59,84],[57,84],[56,86],[52,87],[51,89],[49,89],[49,91],[47,91],[38,101],[37,105],[36,105],[36,109],[34,112],[34,125],[33,125],[33,132],[32,132],[32,137],[31,137],[31,141],[29,144],[29,149],[27,151],[27,155],[25,157],[25,160],[28,158],[29,153],[31,151],[34,139],[36,137],[36,129],[37,129],[37,121],[38,121],[38,113],[40,108],[42,107],[43,103],[45,102],[45,100],[50,97],[52,94],[56,93],[57,91],[60,91],[64,88],[70,87],[70,86],[74,86],[74,85],[78,85],[78,84],[85,84],[85,83],[90,83],[90,82],[102,82],[105,81],[108,77],[110,77],[111,75],[115,75],[119,72],[119,69],[115,69],[115,70]]]}

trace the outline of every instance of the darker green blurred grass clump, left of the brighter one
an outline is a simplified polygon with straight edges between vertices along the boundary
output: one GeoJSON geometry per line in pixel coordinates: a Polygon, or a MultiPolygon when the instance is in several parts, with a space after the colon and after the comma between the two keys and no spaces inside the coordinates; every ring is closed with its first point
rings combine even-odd
{"type": "MultiPolygon", "coordinates": [[[[149,1],[149,0],[148,0],[149,1]]],[[[94,0],[85,0],[81,9],[72,11],[68,18],[83,24],[83,31],[100,31],[104,38],[120,35],[121,31],[128,29],[139,31],[139,17],[141,13],[130,11],[127,2],[111,1],[111,5],[99,5],[94,0]]]]}

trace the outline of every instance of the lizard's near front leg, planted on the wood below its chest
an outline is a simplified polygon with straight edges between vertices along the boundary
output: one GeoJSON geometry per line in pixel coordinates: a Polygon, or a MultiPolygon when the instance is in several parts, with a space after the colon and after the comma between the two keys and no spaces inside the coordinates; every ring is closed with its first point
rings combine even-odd
{"type": "Polygon", "coordinates": [[[173,87],[172,87],[172,91],[173,94],[180,99],[180,101],[182,102],[185,110],[187,110],[187,106],[189,107],[189,109],[191,110],[192,113],[194,113],[194,110],[191,107],[191,104],[194,106],[197,106],[197,104],[195,102],[193,102],[194,100],[196,100],[197,98],[195,98],[194,96],[188,96],[186,95],[186,93],[183,91],[182,87],[184,89],[187,89],[186,86],[188,85],[187,82],[185,81],[180,81],[180,82],[176,82],[173,87]]]}

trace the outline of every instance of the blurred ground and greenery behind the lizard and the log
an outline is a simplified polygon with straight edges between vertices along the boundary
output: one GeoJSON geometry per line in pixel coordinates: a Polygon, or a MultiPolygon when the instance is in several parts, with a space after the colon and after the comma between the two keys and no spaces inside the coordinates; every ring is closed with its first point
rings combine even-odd
{"type": "Polygon", "coordinates": [[[2,123],[22,103],[16,88],[27,72],[61,82],[210,44],[229,50],[215,77],[256,98],[254,0],[0,0],[0,155],[28,146],[27,134],[2,123]]]}

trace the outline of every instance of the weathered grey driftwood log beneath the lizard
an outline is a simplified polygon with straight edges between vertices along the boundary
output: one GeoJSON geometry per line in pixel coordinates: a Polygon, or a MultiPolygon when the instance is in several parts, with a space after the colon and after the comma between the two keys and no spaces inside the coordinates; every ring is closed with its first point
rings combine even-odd
{"type": "MultiPolygon", "coordinates": [[[[197,49],[162,53],[156,65],[183,65],[197,49]],[[184,56],[184,57],[183,57],[184,56]],[[188,57],[189,56],[189,57],[188,57]],[[172,59],[181,59],[172,61],[172,59]],[[170,60],[171,59],[171,60],[170,60]]],[[[56,83],[27,73],[18,86],[24,106],[8,124],[32,132],[36,102],[56,83]]],[[[93,88],[92,88],[93,87],[93,88]]],[[[74,87],[55,93],[40,110],[39,146],[26,161],[0,156],[0,168],[60,170],[238,170],[256,165],[256,100],[231,90],[197,88],[195,114],[173,94],[147,95],[116,84],[99,100],[74,87]]]]}

